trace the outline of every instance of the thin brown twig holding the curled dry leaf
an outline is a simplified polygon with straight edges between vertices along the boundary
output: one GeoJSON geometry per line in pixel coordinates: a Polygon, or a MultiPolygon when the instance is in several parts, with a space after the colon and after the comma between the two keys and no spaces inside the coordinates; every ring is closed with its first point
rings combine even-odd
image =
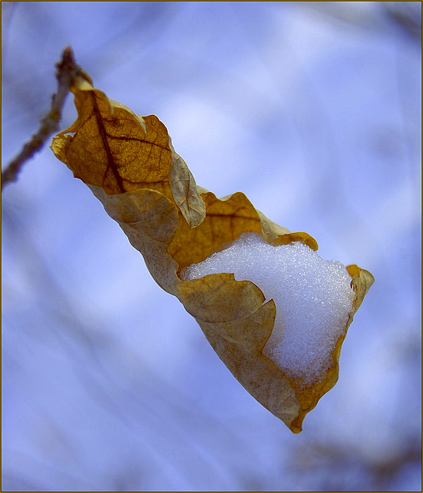
{"type": "Polygon", "coordinates": [[[36,151],[39,151],[48,137],[57,132],[59,129],[59,121],[62,117],[62,109],[65,104],[67,93],[76,76],[83,76],[88,79],[83,69],[76,65],[72,48],[67,46],[63,51],[62,60],[57,65],[56,78],[58,79],[58,92],[53,94],[51,100],[51,109],[41,119],[39,129],[32,135],[31,140],[26,142],[22,147],[22,151],[8,163],[8,166],[1,172],[1,189],[4,185],[14,182],[18,178],[20,168],[23,163],[29,158],[32,158],[36,151]]]}

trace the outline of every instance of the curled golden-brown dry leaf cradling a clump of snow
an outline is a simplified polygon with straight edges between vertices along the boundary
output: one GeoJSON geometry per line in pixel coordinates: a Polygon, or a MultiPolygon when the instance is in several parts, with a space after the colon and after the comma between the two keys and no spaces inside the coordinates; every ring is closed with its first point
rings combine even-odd
{"type": "Polygon", "coordinates": [[[156,116],[137,116],[86,79],[76,79],[72,92],[78,119],[54,137],[55,156],[119,223],[161,288],[196,318],[234,377],[292,431],[301,431],[304,416],[337,380],[342,342],[374,281],[372,275],[356,265],[347,267],[355,292],[353,308],[323,379],[304,386],[288,377],[262,354],[274,327],[273,299],[266,302],[254,283],[235,281],[231,273],[182,281],[180,271],[247,231],[262,234],[271,245],[301,241],[317,250],[314,238],[278,226],[241,192],[220,199],[198,187],[156,116]]]}

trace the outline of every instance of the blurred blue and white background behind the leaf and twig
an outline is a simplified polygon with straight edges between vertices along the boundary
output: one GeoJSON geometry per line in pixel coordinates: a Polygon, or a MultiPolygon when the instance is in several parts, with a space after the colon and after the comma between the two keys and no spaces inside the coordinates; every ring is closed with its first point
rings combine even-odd
{"type": "Polygon", "coordinates": [[[421,491],[421,9],[1,3],[3,168],[71,45],[198,184],[376,280],[294,435],[47,145],[1,198],[3,491],[421,491]]]}

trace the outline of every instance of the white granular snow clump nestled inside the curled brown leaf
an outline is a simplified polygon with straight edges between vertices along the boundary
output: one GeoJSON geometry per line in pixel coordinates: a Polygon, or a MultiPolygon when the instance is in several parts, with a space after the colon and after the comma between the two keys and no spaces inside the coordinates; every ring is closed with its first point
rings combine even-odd
{"type": "Polygon", "coordinates": [[[234,273],[236,281],[252,281],[274,299],[276,319],[264,356],[304,384],[323,378],[354,298],[340,262],[323,260],[300,242],[275,247],[260,234],[244,233],[181,276],[188,281],[213,273],[234,273]]]}

